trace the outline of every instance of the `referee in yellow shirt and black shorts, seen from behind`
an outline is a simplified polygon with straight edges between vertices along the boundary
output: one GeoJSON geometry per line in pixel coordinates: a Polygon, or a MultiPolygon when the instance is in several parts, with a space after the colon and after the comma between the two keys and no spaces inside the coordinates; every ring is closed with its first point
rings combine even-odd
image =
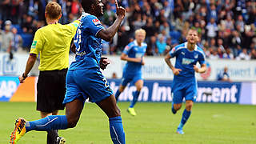
{"type": "MultiPolygon", "coordinates": [[[[70,42],[74,38],[79,20],[62,25],[58,20],[62,17],[62,8],[57,2],[49,2],[45,12],[47,26],[38,29],[30,48],[30,56],[26,62],[26,70],[19,77],[22,83],[34,66],[40,54],[40,70],[37,85],[37,110],[41,118],[58,114],[64,110],[62,101],[66,94],[66,72],[69,66],[70,42]]],[[[63,144],[65,138],[58,137],[57,130],[47,132],[47,144],[63,144]]]]}

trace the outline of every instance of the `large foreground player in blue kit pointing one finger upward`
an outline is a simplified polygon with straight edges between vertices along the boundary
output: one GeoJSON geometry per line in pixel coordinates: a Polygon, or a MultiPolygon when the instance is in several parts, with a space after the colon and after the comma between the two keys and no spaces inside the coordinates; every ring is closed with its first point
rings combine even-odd
{"type": "Polygon", "coordinates": [[[73,128],[80,118],[87,98],[90,102],[95,102],[109,118],[112,142],[126,143],[120,110],[116,105],[113,91],[100,71],[102,66],[100,62],[104,63],[104,60],[100,60],[102,39],[110,41],[114,37],[125,17],[126,10],[119,7],[118,2],[115,1],[117,18],[112,26],[105,29],[98,20],[98,17],[103,14],[102,1],[82,0],[81,5],[86,14],[82,16],[74,36],[76,58],[66,75],[66,95],[63,101],[66,104],[66,115],[50,115],[32,122],[18,118],[11,134],[12,143],[16,143],[30,130],[73,128]]]}

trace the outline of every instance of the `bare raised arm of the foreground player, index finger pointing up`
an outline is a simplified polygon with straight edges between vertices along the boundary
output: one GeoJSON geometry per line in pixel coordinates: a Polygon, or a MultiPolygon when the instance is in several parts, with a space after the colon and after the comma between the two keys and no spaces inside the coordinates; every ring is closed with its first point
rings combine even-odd
{"type": "Polygon", "coordinates": [[[100,30],[97,34],[98,38],[102,38],[107,42],[112,40],[114,34],[118,31],[118,28],[121,25],[122,19],[126,16],[126,9],[124,9],[122,6],[118,6],[117,0],[115,0],[115,6],[117,8],[116,14],[118,15],[118,18],[110,27],[100,30]]]}

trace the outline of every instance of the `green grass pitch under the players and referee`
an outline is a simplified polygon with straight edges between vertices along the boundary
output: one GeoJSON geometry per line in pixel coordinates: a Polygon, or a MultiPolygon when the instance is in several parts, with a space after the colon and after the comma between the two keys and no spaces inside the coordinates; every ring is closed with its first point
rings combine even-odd
{"type": "MultiPolygon", "coordinates": [[[[138,102],[137,116],[126,112],[128,102],[119,102],[127,144],[255,144],[256,106],[195,103],[185,134],[176,134],[182,110],[171,114],[170,103],[138,102]]],[[[0,102],[0,144],[8,143],[14,120],[39,118],[34,102],[0,102]]],[[[60,114],[64,114],[62,111],[60,114]]],[[[78,125],[60,130],[67,144],[110,144],[109,123],[96,104],[86,103],[78,125]]],[[[44,144],[46,132],[31,131],[18,144],[44,144]]]]}

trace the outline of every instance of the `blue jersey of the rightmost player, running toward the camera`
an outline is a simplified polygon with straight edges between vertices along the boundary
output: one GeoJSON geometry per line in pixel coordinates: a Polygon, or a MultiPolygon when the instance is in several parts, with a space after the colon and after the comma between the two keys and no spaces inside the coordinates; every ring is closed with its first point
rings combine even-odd
{"type": "Polygon", "coordinates": [[[193,51],[187,49],[187,42],[175,46],[170,50],[170,56],[176,57],[175,68],[181,69],[178,75],[174,75],[174,80],[177,78],[190,79],[194,78],[194,65],[199,62],[201,65],[205,63],[205,54],[199,46],[195,46],[193,51]]]}

